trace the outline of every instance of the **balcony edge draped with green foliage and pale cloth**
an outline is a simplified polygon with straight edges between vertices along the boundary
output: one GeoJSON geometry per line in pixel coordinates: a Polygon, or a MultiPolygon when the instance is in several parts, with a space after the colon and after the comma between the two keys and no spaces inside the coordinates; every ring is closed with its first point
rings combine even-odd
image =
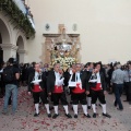
{"type": "Polygon", "coordinates": [[[11,16],[16,23],[16,27],[21,28],[27,38],[35,35],[34,21],[21,0],[0,0],[0,9],[11,16]]]}

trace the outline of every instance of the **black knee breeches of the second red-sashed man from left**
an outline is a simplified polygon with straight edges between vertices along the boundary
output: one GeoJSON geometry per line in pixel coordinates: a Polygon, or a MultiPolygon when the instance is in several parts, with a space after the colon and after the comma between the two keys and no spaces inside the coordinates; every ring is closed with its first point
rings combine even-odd
{"type": "Polygon", "coordinates": [[[59,105],[59,100],[61,102],[62,105],[68,105],[68,100],[66,97],[66,93],[52,93],[51,94],[53,106],[59,105]]]}

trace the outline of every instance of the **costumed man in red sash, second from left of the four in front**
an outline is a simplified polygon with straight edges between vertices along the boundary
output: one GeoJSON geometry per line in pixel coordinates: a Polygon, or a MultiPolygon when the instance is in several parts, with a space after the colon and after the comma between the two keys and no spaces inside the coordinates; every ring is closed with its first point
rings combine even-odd
{"type": "Polygon", "coordinates": [[[63,90],[64,78],[62,74],[63,72],[60,69],[60,64],[56,63],[53,66],[53,70],[48,73],[48,78],[47,78],[47,93],[49,96],[52,97],[53,100],[53,108],[55,108],[55,115],[52,116],[53,119],[56,119],[59,116],[58,114],[59,100],[61,100],[63,105],[63,108],[66,110],[66,116],[68,118],[72,118],[68,109],[68,102],[63,90]]]}

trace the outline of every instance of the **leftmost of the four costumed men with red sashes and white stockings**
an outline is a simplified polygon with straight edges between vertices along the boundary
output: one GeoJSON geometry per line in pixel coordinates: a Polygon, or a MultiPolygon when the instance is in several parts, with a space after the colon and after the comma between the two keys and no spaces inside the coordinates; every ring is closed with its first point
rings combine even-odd
{"type": "Polygon", "coordinates": [[[34,71],[29,73],[28,76],[28,95],[33,92],[33,98],[35,104],[35,115],[34,117],[38,117],[39,115],[39,98],[41,99],[43,104],[47,109],[48,117],[51,117],[49,110],[49,104],[46,95],[46,75],[41,72],[40,66],[38,63],[35,64],[34,71]]]}

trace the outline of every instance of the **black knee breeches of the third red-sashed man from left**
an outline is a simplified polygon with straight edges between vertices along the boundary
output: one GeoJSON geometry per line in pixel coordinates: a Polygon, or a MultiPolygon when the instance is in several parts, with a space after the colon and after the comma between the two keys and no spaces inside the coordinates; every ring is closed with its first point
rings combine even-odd
{"type": "Polygon", "coordinates": [[[72,104],[78,105],[78,104],[86,105],[86,94],[85,93],[72,93],[72,104]]]}

